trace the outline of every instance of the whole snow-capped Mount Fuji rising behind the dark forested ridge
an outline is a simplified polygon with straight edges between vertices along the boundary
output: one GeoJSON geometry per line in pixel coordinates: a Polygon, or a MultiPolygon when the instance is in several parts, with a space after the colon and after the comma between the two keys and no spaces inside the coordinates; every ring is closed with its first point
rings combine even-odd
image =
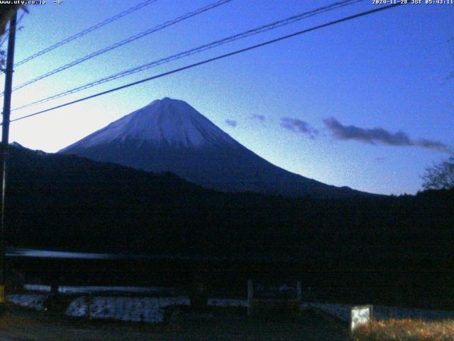
{"type": "Polygon", "coordinates": [[[168,97],[112,122],[59,153],[144,171],[172,172],[225,192],[293,197],[366,194],[285,171],[239,144],[186,102],[168,97]]]}

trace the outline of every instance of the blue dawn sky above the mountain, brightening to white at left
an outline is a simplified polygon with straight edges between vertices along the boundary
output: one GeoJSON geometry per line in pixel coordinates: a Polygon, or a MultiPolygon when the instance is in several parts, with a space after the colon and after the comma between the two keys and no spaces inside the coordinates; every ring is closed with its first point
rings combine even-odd
{"type": "MultiPolygon", "coordinates": [[[[16,61],[137,1],[28,6],[16,61]]],[[[17,67],[14,85],[214,0],[157,0],[17,67]]],[[[13,92],[12,107],[334,1],[233,0],[13,92]]],[[[376,8],[365,0],[12,118],[263,40],[376,8]]],[[[183,99],[241,144],[294,173],[373,193],[416,193],[454,148],[454,5],[399,6],[11,124],[11,141],[58,151],[154,99],[183,99]]],[[[1,82],[4,78],[1,77],[1,82]]]]}

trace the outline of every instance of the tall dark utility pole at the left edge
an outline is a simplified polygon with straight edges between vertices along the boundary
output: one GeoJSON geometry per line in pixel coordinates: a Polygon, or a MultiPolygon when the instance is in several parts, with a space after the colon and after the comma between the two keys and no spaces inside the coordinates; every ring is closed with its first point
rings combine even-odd
{"type": "Polygon", "coordinates": [[[0,314],[5,312],[5,197],[6,166],[9,148],[9,116],[11,114],[11,88],[13,85],[14,43],[16,42],[17,11],[9,22],[8,55],[6,56],[5,95],[3,104],[3,123],[1,126],[1,218],[0,218],[0,314]]]}

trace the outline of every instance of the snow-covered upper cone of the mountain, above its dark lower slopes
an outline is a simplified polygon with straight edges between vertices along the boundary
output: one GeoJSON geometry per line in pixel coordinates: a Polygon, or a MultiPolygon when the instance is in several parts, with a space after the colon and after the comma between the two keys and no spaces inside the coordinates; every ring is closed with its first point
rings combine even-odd
{"type": "MultiPolygon", "coordinates": [[[[126,140],[186,148],[238,145],[231,136],[189,104],[169,97],[157,99],[146,107],[112,122],[76,145],[90,148],[98,144],[126,140]]],[[[70,148],[72,146],[66,149],[70,148]]]]}

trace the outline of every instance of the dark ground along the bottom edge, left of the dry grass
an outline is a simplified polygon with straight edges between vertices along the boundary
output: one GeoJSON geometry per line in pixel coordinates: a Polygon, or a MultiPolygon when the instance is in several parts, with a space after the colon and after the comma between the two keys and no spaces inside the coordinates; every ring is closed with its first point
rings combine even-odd
{"type": "Polygon", "coordinates": [[[209,315],[182,313],[172,323],[145,325],[68,320],[9,307],[0,318],[0,340],[347,340],[346,325],[312,313],[298,318],[251,319],[245,311],[214,310],[209,315]]]}

